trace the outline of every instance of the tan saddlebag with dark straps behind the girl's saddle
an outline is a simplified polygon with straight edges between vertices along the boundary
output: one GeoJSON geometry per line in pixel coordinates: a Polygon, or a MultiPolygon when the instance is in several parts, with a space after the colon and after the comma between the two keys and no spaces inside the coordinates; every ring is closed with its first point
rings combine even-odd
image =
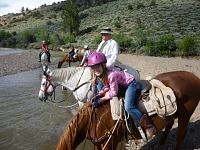
{"type": "Polygon", "coordinates": [[[156,79],[150,80],[152,88],[149,97],[153,102],[154,108],[160,117],[172,115],[177,110],[176,97],[171,88],[166,87],[156,79]]]}

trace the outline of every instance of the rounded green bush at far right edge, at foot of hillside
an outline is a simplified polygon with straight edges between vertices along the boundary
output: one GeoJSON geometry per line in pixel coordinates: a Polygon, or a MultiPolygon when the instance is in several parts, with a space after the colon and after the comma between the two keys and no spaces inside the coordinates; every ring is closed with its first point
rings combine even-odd
{"type": "Polygon", "coordinates": [[[195,37],[184,36],[177,44],[179,51],[185,56],[197,55],[197,40],[195,37]]]}

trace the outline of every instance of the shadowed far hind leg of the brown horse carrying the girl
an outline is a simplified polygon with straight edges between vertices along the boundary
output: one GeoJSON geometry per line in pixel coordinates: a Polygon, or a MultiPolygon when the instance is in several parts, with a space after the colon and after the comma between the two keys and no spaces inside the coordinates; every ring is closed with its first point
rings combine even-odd
{"type": "Polygon", "coordinates": [[[169,132],[170,132],[170,130],[171,130],[173,124],[174,124],[174,119],[172,119],[172,120],[168,123],[168,125],[165,127],[165,131],[164,131],[164,133],[163,133],[163,135],[162,135],[160,141],[159,141],[159,142],[155,145],[155,147],[154,147],[155,149],[160,149],[161,146],[166,142],[167,137],[168,137],[168,135],[169,135],[169,132]]]}

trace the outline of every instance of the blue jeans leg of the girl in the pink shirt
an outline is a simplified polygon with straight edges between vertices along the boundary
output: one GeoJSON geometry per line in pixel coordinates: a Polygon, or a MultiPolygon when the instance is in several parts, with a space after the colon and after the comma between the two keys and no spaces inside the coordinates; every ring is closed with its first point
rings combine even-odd
{"type": "Polygon", "coordinates": [[[142,118],[142,113],[139,111],[138,107],[135,106],[136,97],[136,81],[135,79],[128,85],[125,92],[125,110],[131,115],[133,119],[140,122],[142,118]]]}

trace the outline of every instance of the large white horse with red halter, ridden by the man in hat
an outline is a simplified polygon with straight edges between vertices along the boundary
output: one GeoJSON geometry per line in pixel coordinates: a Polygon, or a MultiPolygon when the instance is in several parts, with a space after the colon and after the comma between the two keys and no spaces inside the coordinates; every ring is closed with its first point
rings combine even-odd
{"type": "MultiPolygon", "coordinates": [[[[120,68],[126,69],[127,72],[134,75],[136,81],[140,80],[140,75],[135,69],[127,65],[120,65],[120,68]]],[[[92,84],[92,78],[89,67],[55,69],[49,75],[43,76],[38,97],[41,101],[46,101],[56,86],[62,85],[73,92],[81,107],[94,96],[96,87],[92,84]]]]}

